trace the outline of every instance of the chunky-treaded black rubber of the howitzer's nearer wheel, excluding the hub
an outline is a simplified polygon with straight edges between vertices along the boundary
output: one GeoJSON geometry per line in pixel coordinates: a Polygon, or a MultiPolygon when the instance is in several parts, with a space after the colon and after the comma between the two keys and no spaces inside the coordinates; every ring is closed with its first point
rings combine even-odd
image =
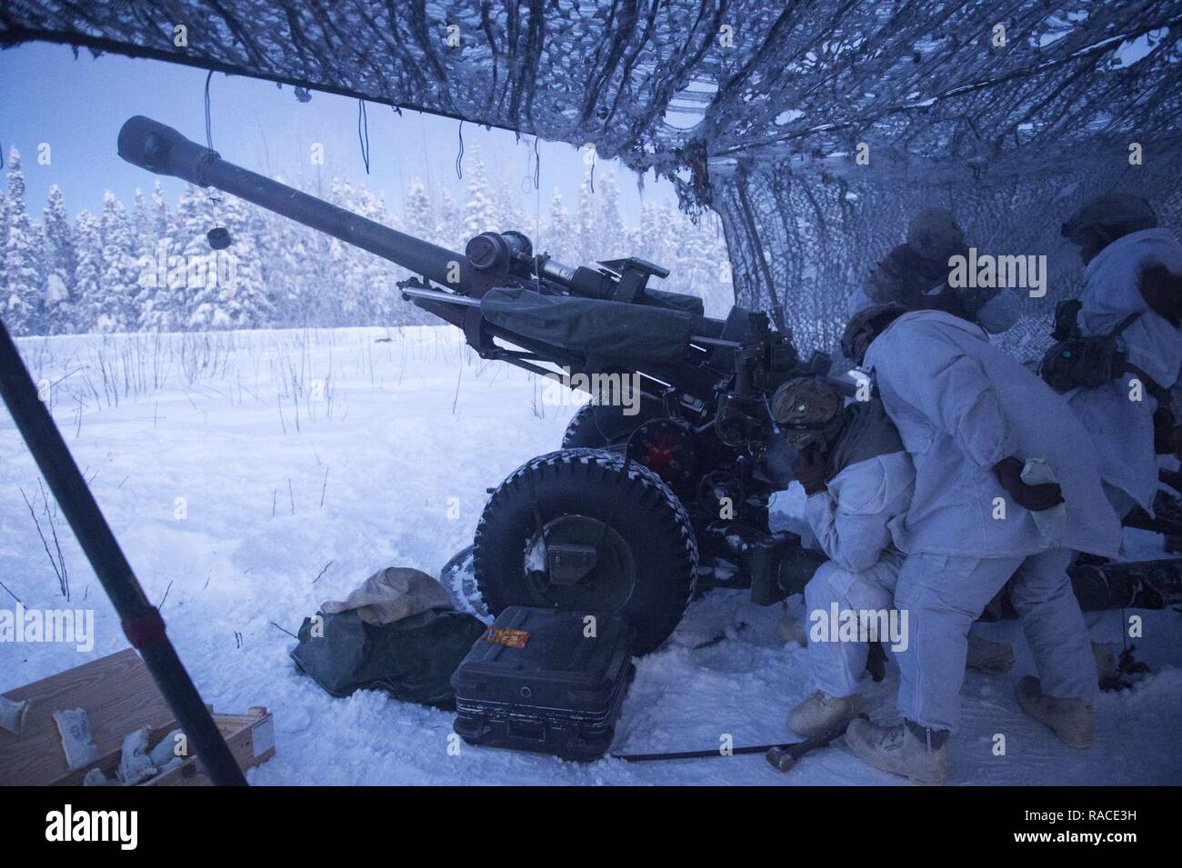
{"type": "Polygon", "coordinates": [[[697,542],[686,508],[656,474],[616,452],[563,449],[527,462],[493,492],[476,526],[473,569],[489,612],[554,606],[526,580],[526,548],[543,522],[580,515],[628,547],[635,581],[618,609],[636,626],[634,653],[655,651],[694,595],[697,542]]]}

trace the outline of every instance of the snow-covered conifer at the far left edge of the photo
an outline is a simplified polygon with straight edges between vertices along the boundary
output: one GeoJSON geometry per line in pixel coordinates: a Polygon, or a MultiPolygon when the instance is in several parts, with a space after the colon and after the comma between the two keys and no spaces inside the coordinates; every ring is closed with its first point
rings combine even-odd
{"type": "Polygon", "coordinates": [[[4,320],[13,334],[40,334],[44,327],[44,275],[38,256],[41,243],[25,209],[25,172],[20,169],[20,152],[15,146],[8,152],[5,198],[8,237],[4,246],[4,320]]]}

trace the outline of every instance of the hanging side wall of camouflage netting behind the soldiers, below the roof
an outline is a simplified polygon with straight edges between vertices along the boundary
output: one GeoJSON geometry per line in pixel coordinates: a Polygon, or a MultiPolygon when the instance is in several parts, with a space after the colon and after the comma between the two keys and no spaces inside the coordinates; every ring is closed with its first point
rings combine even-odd
{"type": "Polygon", "coordinates": [[[1047,256],[1046,296],[1026,298],[1026,318],[995,339],[1032,359],[1050,344],[1056,302],[1080,288],[1078,248],[1060,236],[1063,222],[1082,201],[1123,190],[1150,200],[1164,224],[1182,230],[1180,161],[1182,142],[1173,141],[1158,143],[1139,167],[1129,165],[1124,150],[1082,150],[1021,172],[991,168],[940,181],[923,171],[879,183],[872,176],[827,178],[772,168],[720,184],[715,207],[740,298],[782,308],[798,342],[821,348],[840,337],[849,294],[903,241],[910,216],[929,204],[949,208],[961,217],[967,243],[982,253],[1047,256]]]}

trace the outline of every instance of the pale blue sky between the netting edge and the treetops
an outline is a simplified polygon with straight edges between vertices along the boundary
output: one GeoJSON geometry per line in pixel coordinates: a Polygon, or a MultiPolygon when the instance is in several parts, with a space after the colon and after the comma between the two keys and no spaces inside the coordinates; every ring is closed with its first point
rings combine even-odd
{"type": "MultiPolygon", "coordinates": [[[[72,214],[100,207],[104,190],[113,190],[130,203],[137,187],[151,189],[156,176],[118,158],[119,126],[132,115],[147,115],[175,126],[196,142],[204,142],[206,72],[156,60],[105,54],[97,59],[80,50],[74,59],[64,46],[32,44],[0,51],[0,144],[7,162],[17,145],[25,165],[30,210],[39,215],[50,184],[61,187],[72,214]],[[51,164],[39,165],[40,143],[51,146],[51,164]]],[[[214,148],[248,169],[268,175],[311,181],[316,169],[310,152],[324,145],[325,182],[343,177],[368,183],[375,192],[402,209],[402,192],[414,177],[429,181],[433,189],[449,184],[460,195],[456,178],[459,123],[430,115],[368,104],[370,176],[365,176],[357,136],[357,100],[313,92],[310,103],[299,103],[291,87],[249,78],[214,73],[210,84],[214,148]]],[[[512,132],[485,130],[463,124],[467,155],[479,146],[494,184],[507,182],[522,200],[531,222],[537,194],[532,176],[533,138],[518,142],[512,132]]],[[[540,208],[545,218],[550,195],[558,187],[573,205],[583,176],[582,154],[566,144],[543,142],[540,208]]],[[[636,175],[615,162],[600,161],[596,175],[615,171],[622,188],[621,207],[635,222],[642,195],[636,175]]],[[[164,180],[170,203],[180,195],[181,182],[164,180]]],[[[673,204],[668,182],[645,177],[648,201],[673,204]]],[[[623,253],[621,254],[623,255],[623,253]]]]}

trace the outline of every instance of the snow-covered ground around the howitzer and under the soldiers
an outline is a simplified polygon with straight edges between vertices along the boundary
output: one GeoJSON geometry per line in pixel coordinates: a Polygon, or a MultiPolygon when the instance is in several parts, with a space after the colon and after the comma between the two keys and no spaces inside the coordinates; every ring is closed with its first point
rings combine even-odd
{"type": "MultiPolygon", "coordinates": [[[[278,753],[252,783],[897,783],[840,744],[782,776],[758,756],[635,765],[469,746],[449,756],[450,714],[372,691],[333,699],[296,674],[293,640],[273,624],[294,632],[381,567],[436,573],[470,542],[486,488],[561,438],[573,406],[547,406],[534,378],[482,363],[455,329],[86,335],[25,339],[21,350],[206,701],[274,712],[278,753]]],[[[27,607],[63,608],[21,489],[51,549],[56,520],[69,605],[95,609],[96,638],[89,653],[0,642],[0,691],[126,646],[0,412],[0,581],[27,607]]],[[[785,492],[778,520],[800,505],[799,489],[785,492]]],[[[1152,556],[1160,542],[1129,531],[1128,548],[1152,556]]],[[[808,690],[805,652],[778,640],[779,607],[745,598],[719,590],[694,602],[671,640],[639,661],[613,750],[710,749],[723,733],[735,745],[792,738],[784,716],[808,690]]],[[[0,590],[0,608],[14,606],[0,590]]],[[[1141,614],[1137,655],[1154,672],[1102,697],[1086,751],[1018,710],[1012,688],[1033,671],[1030,652],[1015,624],[988,625],[986,635],[1014,644],[1018,666],[1004,678],[969,673],[952,782],[1182,783],[1182,615],[1141,614]],[[1005,756],[993,752],[995,733],[1005,756]]],[[[1119,613],[1104,628],[1119,641],[1119,613]]],[[[894,666],[884,683],[865,681],[873,719],[895,720],[896,684],[894,666]]]]}

